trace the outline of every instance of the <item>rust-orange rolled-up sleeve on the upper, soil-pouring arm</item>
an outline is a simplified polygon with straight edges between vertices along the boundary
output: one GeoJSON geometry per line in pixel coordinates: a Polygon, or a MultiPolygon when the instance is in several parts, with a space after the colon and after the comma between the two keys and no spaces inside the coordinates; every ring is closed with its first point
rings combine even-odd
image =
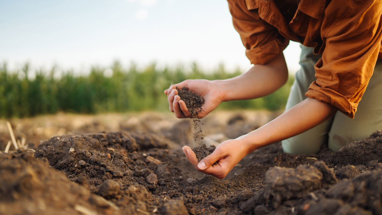
{"type": "Polygon", "coordinates": [[[262,20],[258,10],[248,10],[245,0],[227,0],[233,26],[240,34],[251,64],[266,64],[289,44],[277,28],[262,20]]]}

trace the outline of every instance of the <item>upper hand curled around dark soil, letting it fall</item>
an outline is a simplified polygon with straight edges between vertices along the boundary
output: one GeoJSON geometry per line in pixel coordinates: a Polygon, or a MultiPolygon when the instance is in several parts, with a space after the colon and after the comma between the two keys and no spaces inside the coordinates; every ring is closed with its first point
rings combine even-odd
{"type": "Polygon", "coordinates": [[[167,95],[167,101],[171,112],[175,113],[177,118],[189,118],[191,117],[190,112],[184,101],[178,96],[178,89],[184,86],[190,91],[202,96],[204,98],[204,103],[202,105],[202,110],[197,114],[199,118],[207,116],[211,111],[213,111],[220,103],[224,101],[225,93],[223,87],[219,85],[219,81],[209,81],[209,80],[185,80],[176,85],[171,85],[170,88],[165,90],[167,95]]]}

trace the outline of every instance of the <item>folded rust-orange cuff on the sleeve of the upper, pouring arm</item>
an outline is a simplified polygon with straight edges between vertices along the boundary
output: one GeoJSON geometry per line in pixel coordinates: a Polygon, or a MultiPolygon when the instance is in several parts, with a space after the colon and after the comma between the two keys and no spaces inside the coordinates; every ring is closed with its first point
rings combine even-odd
{"type": "Polygon", "coordinates": [[[251,64],[267,64],[280,54],[286,46],[288,46],[289,40],[284,38],[284,41],[279,39],[272,40],[263,46],[253,49],[247,49],[245,54],[247,55],[251,64]]]}

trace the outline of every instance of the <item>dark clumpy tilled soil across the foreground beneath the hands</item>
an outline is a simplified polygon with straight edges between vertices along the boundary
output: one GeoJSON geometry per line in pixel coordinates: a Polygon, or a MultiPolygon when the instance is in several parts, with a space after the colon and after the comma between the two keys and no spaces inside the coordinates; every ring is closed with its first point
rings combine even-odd
{"type": "Polygon", "coordinates": [[[68,134],[1,153],[0,214],[382,214],[381,131],[335,153],[274,144],[224,180],[197,172],[178,138],[68,134]]]}

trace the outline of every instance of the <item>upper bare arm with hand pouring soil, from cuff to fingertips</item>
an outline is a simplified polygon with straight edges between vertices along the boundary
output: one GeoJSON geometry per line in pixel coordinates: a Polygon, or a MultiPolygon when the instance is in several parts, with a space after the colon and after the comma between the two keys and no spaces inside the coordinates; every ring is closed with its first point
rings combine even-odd
{"type": "Polygon", "coordinates": [[[288,80],[288,68],[281,53],[265,65],[254,65],[248,72],[227,80],[185,80],[165,90],[170,111],[178,118],[190,117],[186,104],[178,96],[178,88],[189,88],[205,99],[200,118],[207,116],[223,101],[254,99],[273,93],[288,80]]]}

